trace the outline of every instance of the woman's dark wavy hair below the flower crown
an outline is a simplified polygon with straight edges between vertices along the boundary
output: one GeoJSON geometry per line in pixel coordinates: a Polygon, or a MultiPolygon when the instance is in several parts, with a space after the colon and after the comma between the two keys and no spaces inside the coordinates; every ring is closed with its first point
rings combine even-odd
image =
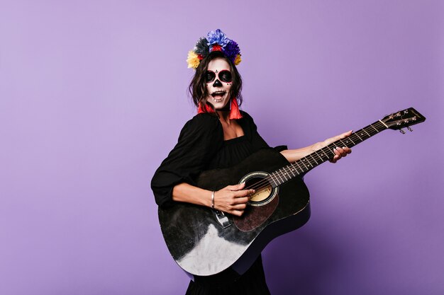
{"type": "MultiPolygon", "coordinates": [[[[201,60],[199,66],[196,68],[196,73],[194,74],[194,77],[189,83],[189,93],[191,94],[193,98],[193,103],[196,105],[196,107],[199,107],[199,103],[202,103],[202,105],[210,105],[211,108],[213,108],[213,105],[211,103],[207,103],[206,97],[208,96],[208,92],[206,91],[206,83],[205,83],[205,73],[206,69],[208,69],[208,64],[213,59],[224,59],[231,67],[231,74],[233,75],[233,83],[231,83],[231,90],[229,93],[230,98],[236,98],[238,100],[238,105],[242,104],[242,77],[240,76],[238,69],[236,69],[235,64],[231,62],[231,59],[228,59],[228,57],[223,54],[223,52],[220,51],[213,51],[210,52],[208,56],[206,56],[204,59],[201,60]]],[[[203,108],[204,111],[206,108],[203,108]]]]}

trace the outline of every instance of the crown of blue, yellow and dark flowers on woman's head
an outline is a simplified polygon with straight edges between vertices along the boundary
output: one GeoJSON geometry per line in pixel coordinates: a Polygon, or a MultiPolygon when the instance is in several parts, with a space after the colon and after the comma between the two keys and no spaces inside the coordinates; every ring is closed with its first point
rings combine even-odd
{"type": "Polygon", "coordinates": [[[196,69],[201,60],[213,51],[223,52],[236,66],[242,61],[238,43],[228,39],[221,30],[217,29],[209,32],[206,37],[201,37],[194,49],[188,52],[188,67],[196,69]]]}

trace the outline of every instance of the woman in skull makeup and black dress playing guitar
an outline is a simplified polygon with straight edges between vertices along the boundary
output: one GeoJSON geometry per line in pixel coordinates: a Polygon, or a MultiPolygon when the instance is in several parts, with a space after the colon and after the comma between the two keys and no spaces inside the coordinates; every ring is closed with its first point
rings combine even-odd
{"type": "MultiPolygon", "coordinates": [[[[255,151],[268,148],[257,133],[247,112],[240,111],[242,80],[236,69],[240,50],[221,30],[202,37],[189,52],[189,67],[196,69],[189,86],[198,115],[189,120],[174,149],[152,178],[151,187],[159,206],[188,202],[241,216],[254,190],[244,185],[228,185],[211,192],[196,187],[196,176],[204,170],[234,166],[255,151]]],[[[345,132],[302,149],[278,146],[289,162],[311,154],[351,134],[345,132]]],[[[331,162],[350,154],[348,148],[335,149],[331,162]]],[[[259,257],[243,275],[231,268],[208,277],[194,276],[187,294],[270,294],[259,257]]]]}

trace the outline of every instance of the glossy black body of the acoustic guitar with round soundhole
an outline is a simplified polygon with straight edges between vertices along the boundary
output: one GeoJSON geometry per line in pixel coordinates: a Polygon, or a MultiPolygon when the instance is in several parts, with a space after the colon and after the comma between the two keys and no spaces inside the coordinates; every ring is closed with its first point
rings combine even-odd
{"type": "MultiPolygon", "coordinates": [[[[197,185],[221,190],[245,182],[256,192],[243,216],[177,203],[159,208],[165,242],[177,264],[191,274],[216,274],[233,267],[243,274],[276,236],[308,221],[309,190],[300,177],[277,186],[267,176],[287,165],[274,149],[261,149],[231,168],[201,173],[197,185]]],[[[284,177],[284,176],[283,176],[284,177]]]]}

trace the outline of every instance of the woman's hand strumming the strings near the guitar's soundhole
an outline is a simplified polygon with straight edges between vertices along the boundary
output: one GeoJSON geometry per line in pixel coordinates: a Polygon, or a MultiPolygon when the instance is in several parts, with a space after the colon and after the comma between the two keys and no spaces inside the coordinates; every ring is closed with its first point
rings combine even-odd
{"type": "Polygon", "coordinates": [[[228,185],[214,192],[214,208],[235,216],[241,216],[247,207],[247,202],[255,190],[243,190],[245,183],[228,185]]]}

